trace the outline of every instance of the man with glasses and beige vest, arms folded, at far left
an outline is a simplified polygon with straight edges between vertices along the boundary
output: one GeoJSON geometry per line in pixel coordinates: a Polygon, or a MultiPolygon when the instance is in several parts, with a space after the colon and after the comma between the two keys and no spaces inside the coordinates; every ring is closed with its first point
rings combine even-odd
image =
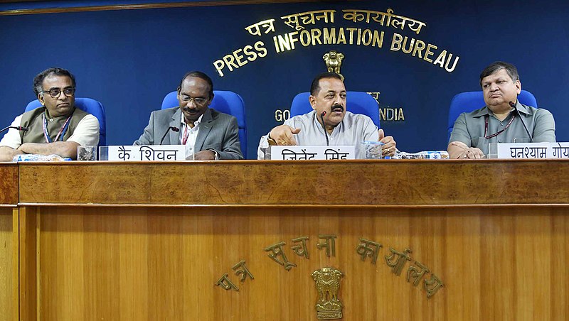
{"type": "Polygon", "coordinates": [[[68,70],[49,68],[33,79],[33,91],[43,105],[17,116],[0,141],[0,161],[18,154],[77,158],[77,146],[97,146],[99,121],[75,108],[75,77],[68,70]]]}

